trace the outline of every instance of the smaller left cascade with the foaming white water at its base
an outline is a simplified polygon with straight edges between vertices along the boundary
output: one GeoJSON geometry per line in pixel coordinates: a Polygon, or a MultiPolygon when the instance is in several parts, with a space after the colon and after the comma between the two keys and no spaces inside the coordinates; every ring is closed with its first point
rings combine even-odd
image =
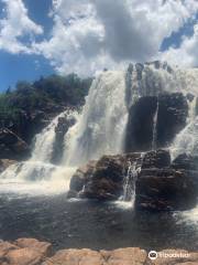
{"type": "Polygon", "coordinates": [[[0,192],[18,192],[29,194],[59,193],[69,189],[70,177],[75,168],[65,168],[51,163],[55,144],[55,128],[58,118],[69,115],[64,112],[35,136],[32,156],[28,161],[9,167],[0,176],[0,192]]]}

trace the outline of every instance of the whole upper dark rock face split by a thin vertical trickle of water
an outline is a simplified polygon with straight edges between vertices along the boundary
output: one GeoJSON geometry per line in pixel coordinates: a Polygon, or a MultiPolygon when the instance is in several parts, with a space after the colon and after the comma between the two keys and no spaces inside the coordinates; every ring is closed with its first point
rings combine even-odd
{"type": "Polygon", "coordinates": [[[186,126],[187,116],[188,104],[182,93],[141,97],[129,110],[125,151],[148,151],[154,140],[156,148],[166,147],[186,126]]]}

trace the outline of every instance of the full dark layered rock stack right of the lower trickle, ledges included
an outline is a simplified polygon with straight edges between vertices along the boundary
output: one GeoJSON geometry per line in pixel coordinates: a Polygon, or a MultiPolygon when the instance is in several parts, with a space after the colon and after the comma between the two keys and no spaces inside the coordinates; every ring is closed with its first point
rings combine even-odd
{"type": "Polygon", "coordinates": [[[196,163],[196,158],[186,155],[170,165],[165,151],[146,153],[136,181],[135,206],[156,211],[194,208],[198,197],[196,163]]]}

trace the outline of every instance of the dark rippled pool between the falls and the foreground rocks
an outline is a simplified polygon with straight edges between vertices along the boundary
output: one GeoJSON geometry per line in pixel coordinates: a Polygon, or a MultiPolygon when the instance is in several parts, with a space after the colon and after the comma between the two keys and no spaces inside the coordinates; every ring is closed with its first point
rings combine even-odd
{"type": "Polygon", "coordinates": [[[117,203],[68,201],[65,194],[33,198],[4,193],[0,195],[0,239],[36,237],[52,242],[56,250],[198,250],[197,212],[134,212],[117,203]]]}

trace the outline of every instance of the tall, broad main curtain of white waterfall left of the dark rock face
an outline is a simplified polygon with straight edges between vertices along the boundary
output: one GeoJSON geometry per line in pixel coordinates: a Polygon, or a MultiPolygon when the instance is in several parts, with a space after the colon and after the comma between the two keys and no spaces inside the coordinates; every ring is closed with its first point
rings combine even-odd
{"type": "Polygon", "coordinates": [[[94,81],[81,115],[66,135],[63,163],[79,166],[122,152],[127,121],[125,73],[103,72],[94,81]]]}

